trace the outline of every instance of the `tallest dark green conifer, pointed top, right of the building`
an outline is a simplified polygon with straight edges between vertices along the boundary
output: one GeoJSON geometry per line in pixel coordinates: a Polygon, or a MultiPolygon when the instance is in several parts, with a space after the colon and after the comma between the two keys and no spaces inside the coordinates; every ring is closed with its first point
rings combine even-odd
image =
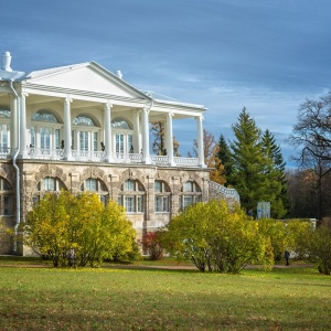
{"type": "Polygon", "coordinates": [[[256,212],[259,201],[268,201],[261,131],[246,108],[243,108],[232,129],[235,140],[231,143],[233,168],[228,183],[238,191],[242,206],[250,214],[256,212]]]}

